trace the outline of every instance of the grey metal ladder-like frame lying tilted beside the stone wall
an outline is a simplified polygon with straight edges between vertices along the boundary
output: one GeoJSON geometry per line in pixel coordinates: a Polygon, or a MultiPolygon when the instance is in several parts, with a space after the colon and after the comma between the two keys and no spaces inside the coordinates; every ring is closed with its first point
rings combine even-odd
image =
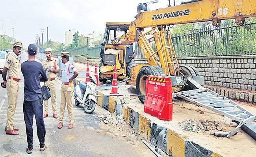
{"type": "MultiPolygon", "coordinates": [[[[193,79],[191,80],[190,77],[188,77],[187,80],[192,84],[195,82],[193,79]]],[[[224,97],[223,95],[219,95],[218,93],[200,85],[196,85],[196,87],[198,89],[175,93],[174,97],[180,97],[203,108],[215,111],[221,115],[239,122],[238,126],[227,135],[228,138],[232,137],[238,131],[238,129],[241,128],[241,126],[247,124],[246,132],[250,132],[248,134],[252,134],[250,136],[255,139],[256,126],[251,123],[251,121],[256,119],[255,115],[239,106],[236,102],[224,97]]]]}

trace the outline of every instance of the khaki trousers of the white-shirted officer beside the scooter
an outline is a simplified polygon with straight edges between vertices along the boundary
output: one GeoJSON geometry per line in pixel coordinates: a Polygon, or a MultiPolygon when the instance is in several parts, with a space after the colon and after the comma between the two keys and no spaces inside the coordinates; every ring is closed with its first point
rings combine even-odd
{"type": "Polygon", "coordinates": [[[69,85],[63,85],[63,84],[61,85],[59,122],[63,123],[63,117],[64,117],[65,107],[66,107],[66,103],[67,103],[67,109],[68,109],[68,114],[69,114],[69,124],[73,124],[74,123],[74,116],[73,116],[74,111],[73,111],[72,94],[74,91],[74,85],[72,84],[71,91],[67,91],[68,88],[69,88],[69,85]]]}

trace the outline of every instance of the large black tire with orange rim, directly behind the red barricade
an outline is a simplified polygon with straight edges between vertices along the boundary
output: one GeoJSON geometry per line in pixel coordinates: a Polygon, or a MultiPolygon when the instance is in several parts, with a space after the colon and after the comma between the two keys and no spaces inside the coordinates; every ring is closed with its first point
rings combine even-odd
{"type": "MultiPolygon", "coordinates": [[[[148,75],[158,76],[158,70],[154,66],[143,66],[136,78],[136,91],[137,94],[145,95],[146,92],[146,82],[148,75]]],[[[145,97],[139,97],[139,100],[144,104],[145,97]]]]}

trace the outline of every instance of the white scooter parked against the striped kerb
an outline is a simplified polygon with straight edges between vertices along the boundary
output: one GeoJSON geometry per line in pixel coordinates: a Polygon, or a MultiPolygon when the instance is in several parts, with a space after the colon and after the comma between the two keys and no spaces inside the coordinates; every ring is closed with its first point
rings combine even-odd
{"type": "Polygon", "coordinates": [[[76,106],[84,104],[85,113],[93,113],[95,110],[95,104],[97,104],[97,100],[95,98],[95,95],[97,94],[97,80],[95,76],[89,76],[89,78],[91,82],[87,82],[86,84],[82,81],[78,81],[78,84],[74,88],[73,95],[76,100],[76,106]]]}

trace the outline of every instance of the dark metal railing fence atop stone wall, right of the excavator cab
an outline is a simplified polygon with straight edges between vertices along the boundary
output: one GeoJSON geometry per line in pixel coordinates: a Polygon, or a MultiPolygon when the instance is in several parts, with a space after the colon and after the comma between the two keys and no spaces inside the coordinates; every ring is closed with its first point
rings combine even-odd
{"type": "MultiPolygon", "coordinates": [[[[255,24],[210,26],[187,34],[174,34],[171,38],[177,57],[256,55],[255,24]]],[[[154,39],[149,42],[156,51],[154,39]]],[[[135,59],[145,59],[138,44],[136,49],[135,59]]]]}

